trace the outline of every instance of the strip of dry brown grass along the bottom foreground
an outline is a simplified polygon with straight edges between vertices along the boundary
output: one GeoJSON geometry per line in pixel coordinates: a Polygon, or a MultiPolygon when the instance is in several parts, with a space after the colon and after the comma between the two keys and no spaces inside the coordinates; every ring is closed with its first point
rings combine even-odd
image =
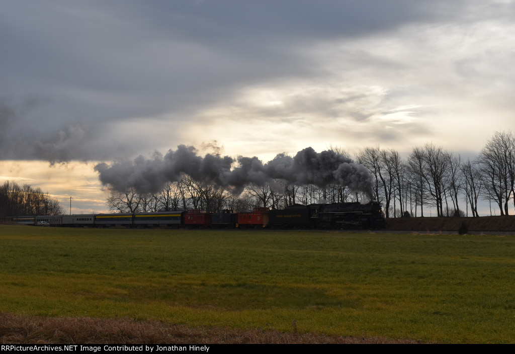
{"type": "Polygon", "coordinates": [[[0,313],[2,344],[416,344],[415,340],[188,327],[131,318],[38,317],[0,313]]]}

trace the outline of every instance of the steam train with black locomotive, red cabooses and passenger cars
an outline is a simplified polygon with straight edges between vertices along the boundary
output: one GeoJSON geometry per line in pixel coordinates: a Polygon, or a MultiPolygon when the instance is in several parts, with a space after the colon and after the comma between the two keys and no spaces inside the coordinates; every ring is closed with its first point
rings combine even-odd
{"type": "Polygon", "coordinates": [[[381,229],[385,216],[381,204],[294,204],[284,209],[256,207],[233,213],[205,213],[200,209],[157,213],[113,213],[9,217],[4,220],[27,225],[63,227],[176,227],[176,228],[295,228],[381,229]]]}

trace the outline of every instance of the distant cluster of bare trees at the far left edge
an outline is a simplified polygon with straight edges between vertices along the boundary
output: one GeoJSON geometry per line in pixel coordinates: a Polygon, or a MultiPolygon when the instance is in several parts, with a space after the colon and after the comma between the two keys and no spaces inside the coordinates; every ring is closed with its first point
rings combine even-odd
{"type": "Polygon", "coordinates": [[[6,181],[0,186],[0,215],[61,215],[64,208],[59,201],[39,187],[22,186],[6,181]]]}

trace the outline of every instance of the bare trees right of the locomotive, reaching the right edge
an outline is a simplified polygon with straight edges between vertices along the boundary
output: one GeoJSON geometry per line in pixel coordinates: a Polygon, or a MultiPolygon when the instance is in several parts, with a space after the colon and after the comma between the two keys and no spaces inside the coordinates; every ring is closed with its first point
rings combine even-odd
{"type": "Polygon", "coordinates": [[[496,132],[466,162],[433,144],[413,148],[404,161],[397,151],[379,146],[356,157],[374,175],[373,198],[383,203],[387,217],[424,216],[427,207],[436,207],[437,216],[464,216],[470,207],[478,217],[480,200],[497,204],[500,215],[508,215],[510,199],[515,206],[515,135],[510,131],[496,132]]]}

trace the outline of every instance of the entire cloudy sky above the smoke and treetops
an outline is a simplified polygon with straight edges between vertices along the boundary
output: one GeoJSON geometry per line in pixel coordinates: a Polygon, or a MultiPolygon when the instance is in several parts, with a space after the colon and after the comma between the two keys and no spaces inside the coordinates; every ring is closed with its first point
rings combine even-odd
{"type": "Polygon", "coordinates": [[[513,19],[508,0],[0,0],[0,180],[80,213],[106,209],[97,163],[180,144],[473,156],[513,126],[513,19]]]}

